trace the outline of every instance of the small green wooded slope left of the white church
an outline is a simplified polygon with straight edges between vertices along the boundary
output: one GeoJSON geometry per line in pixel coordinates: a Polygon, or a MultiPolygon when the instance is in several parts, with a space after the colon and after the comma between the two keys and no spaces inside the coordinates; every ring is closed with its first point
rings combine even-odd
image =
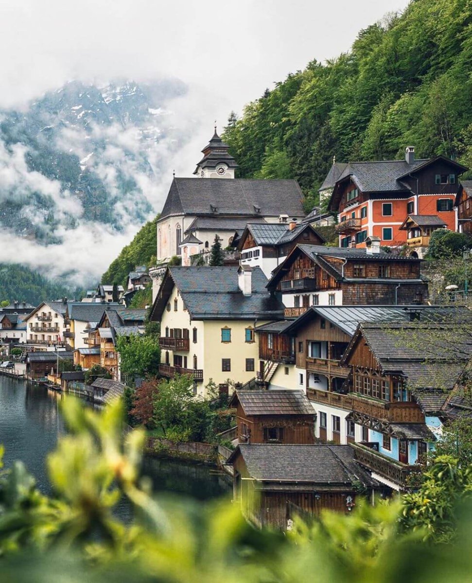
{"type": "Polygon", "coordinates": [[[102,283],[117,283],[125,285],[126,278],[130,271],[137,265],[153,265],[156,262],[156,221],[155,219],[146,223],[129,245],[123,247],[120,255],[102,275],[102,283]]]}

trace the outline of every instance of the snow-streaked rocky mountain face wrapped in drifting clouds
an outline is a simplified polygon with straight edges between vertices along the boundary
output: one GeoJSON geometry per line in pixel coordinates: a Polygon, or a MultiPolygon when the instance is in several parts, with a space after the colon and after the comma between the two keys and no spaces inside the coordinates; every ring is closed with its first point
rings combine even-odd
{"type": "Polygon", "coordinates": [[[166,103],[185,91],[168,80],[71,82],[26,111],[0,111],[0,230],[60,244],[80,224],[120,231],[143,223],[153,210],[158,144],[179,141],[166,103]]]}

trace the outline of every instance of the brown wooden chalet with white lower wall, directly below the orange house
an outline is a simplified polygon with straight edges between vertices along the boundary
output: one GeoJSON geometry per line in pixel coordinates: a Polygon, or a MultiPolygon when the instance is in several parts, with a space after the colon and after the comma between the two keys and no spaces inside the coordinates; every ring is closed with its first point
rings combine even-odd
{"type": "Polygon", "coordinates": [[[297,245],[275,270],[267,288],[279,292],[285,317],[312,305],[424,303],[428,284],[421,260],[380,250],[297,245]]]}

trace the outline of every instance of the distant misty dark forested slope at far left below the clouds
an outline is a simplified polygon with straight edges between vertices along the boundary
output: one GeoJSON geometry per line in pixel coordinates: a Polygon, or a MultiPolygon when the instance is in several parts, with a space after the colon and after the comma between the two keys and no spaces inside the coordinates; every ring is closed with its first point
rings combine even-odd
{"type": "Polygon", "coordinates": [[[0,301],[27,301],[32,305],[42,300],[79,297],[81,290],[70,290],[43,278],[39,273],[18,264],[0,263],[0,301]]]}

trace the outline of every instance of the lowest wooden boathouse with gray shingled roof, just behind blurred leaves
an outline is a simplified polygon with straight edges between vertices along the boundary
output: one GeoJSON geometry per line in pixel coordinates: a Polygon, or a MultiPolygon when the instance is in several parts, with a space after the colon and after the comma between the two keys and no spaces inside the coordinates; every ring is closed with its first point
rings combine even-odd
{"type": "Polygon", "coordinates": [[[228,459],[234,499],[259,528],[286,530],[296,515],[346,514],[359,487],[373,500],[384,487],[356,463],[349,445],[240,444],[228,459]]]}

